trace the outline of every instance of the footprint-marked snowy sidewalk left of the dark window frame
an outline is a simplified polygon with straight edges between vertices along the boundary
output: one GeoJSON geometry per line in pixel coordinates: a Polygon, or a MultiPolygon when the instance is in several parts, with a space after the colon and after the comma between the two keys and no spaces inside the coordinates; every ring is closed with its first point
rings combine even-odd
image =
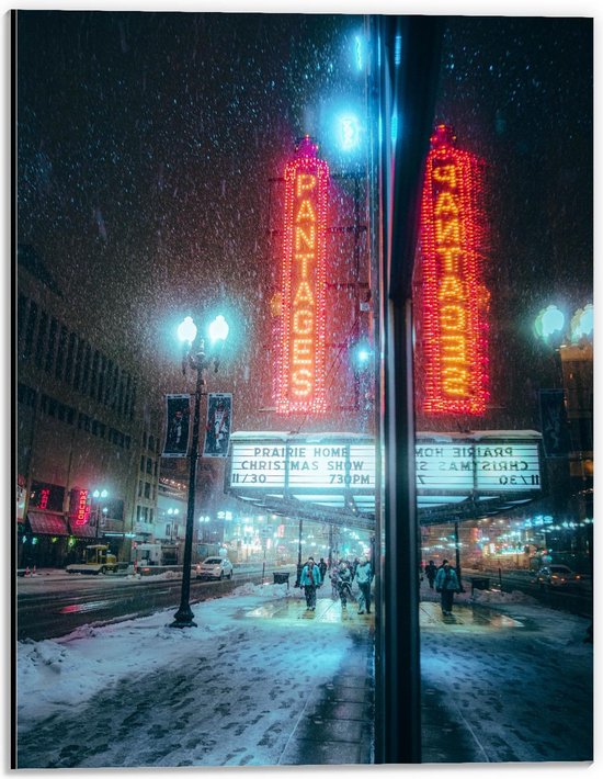
{"type": "Polygon", "coordinates": [[[368,622],[310,623],[304,606],[285,585],[247,585],[193,606],[197,628],[170,628],[172,608],[20,643],[19,768],[368,761],[368,622]],[[277,601],[298,618],[262,619],[277,601]],[[325,705],[345,704],[338,734],[325,705]]]}

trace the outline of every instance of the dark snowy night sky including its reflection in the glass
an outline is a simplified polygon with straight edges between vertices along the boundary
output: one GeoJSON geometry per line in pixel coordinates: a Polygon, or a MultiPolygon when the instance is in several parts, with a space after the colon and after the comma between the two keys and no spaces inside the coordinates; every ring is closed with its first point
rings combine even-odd
{"type": "MultiPolygon", "coordinates": [[[[320,133],[329,100],[362,95],[345,54],[360,27],[357,16],[19,14],[19,240],[78,317],[102,313],[99,338],[127,334],[124,349],[167,370],[180,315],[217,301],[249,335],[239,364],[253,364],[268,179],[296,137],[320,133]]],[[[592,301],[591,21],[451,19],[436,121],[489,165],[494,360],[508,375],[530,355],[539,308],[592,301]]],[[[516,392],[509,381],[493,387],[501,403],[516,392]]]]}

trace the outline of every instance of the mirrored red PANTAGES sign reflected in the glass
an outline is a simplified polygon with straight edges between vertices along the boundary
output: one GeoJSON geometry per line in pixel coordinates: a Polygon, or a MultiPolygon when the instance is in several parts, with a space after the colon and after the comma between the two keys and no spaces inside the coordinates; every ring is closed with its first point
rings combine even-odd
{"type": "Polygon", "coordinates": [[[488,292],[483,285],[483,165],[439,125],[421,203],[421,305],[425,414],[482,415],[489,397],[488,292]]]}

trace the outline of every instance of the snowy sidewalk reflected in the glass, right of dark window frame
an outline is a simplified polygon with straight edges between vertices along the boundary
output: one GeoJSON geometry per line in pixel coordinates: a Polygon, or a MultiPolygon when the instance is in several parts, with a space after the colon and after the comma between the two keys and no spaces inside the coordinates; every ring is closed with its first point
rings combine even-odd
{"type": "Polygon", "coordinates": [[[517,591],[466,592],[442,618],[423,595],[423,763],[592,760],[589,620],[517,591]]]}

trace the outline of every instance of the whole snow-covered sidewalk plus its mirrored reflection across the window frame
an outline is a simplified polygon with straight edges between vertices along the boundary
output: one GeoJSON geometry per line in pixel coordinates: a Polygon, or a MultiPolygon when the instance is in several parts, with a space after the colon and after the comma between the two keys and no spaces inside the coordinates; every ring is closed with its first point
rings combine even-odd
{"type": "MultiPolygon", "coordinates": [[[[371,761],[367,616],[247,585],[195,605],[23,642],[20,768],[371,761]]],[[[423,586],[424,763],[588,760],[588,621],[527,596],[459,596],[444,621],[423,586]]]]}

